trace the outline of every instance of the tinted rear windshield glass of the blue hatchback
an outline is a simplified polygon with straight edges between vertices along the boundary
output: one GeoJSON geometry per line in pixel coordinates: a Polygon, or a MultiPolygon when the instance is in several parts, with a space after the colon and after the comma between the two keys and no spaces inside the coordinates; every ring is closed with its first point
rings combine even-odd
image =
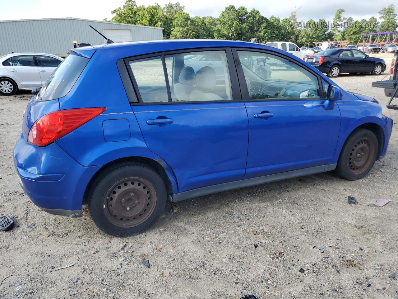
{"type": "Polygon", "coordinates": [[[46,83],[44,83],[37,101],[55,100],[66,96],[86,67],[89,59],[77,55],[68,55],[55,69],[46,83]]]}

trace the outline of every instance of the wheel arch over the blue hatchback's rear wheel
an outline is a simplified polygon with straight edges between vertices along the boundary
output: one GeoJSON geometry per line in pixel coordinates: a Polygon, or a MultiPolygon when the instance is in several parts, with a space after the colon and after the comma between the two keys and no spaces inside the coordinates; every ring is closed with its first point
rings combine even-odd
{"type": "Polygon", "coordinates": [[[140,157],[140,156],[123,157],[106,163],[100,169],[98,169],[98,171],[96,171],[96,173],[92,176],[92,178],[90,179],[90,181],[86,186],[82,199],[82,204],[84,205],[87,203],[87,198],[93,187],[93,183],[103,171],[106,171],[107,169],[114,167],[117,164],[126,163],[126,162],[136,162],[151,167],[160,175],[160,177],[164,181],[168,195],[178,193],[177,180],[174,177],[174,173],[172,169],[168,166],[168,164],[162,159],[154,160],[148,157],[140,157]]]}

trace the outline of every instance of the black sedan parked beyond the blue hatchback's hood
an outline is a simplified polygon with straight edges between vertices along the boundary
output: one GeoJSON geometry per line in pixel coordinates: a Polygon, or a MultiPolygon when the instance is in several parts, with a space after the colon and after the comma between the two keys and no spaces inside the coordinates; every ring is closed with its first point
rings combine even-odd
{"type": "Polygon", "coordinates": [[[338,77],[341,73],[380,75],[386,70],[383,59],[369,57],[356,49],[329,49],[304,57],[304,61],[329,77],[338,77]]]}

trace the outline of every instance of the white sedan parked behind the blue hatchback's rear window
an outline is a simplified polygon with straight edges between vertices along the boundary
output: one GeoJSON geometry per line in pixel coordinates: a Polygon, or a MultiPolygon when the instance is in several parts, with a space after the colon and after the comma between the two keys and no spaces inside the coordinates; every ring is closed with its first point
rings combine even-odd
{"type": "Polygon", "coordinates": [[[12,53],[0,57],[0,94],[41,87],[62,62],[44,53],[12,53]]]}

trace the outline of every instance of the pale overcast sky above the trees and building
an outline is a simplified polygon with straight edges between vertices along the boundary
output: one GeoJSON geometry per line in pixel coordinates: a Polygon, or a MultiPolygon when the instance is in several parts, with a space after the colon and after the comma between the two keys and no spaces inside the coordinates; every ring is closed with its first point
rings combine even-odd
{"type": "MultiPolygon", "coordinates": [[[[53,0],[0,0],[0,20],[16,19],[37,19],[37,18],[82,18],[90,20],[103,20],[112,17],[111,11],[114,8],[123,6],[125,0],[79,0],[54,2],[53,0]],[[55,5],[57,3],[57,5],[55,5]]],[[[158,2],[161,6],[168,2],[177,2],[176,0],[137,0],[139,5],[150,5],[158,2]]],[[[332,21],[338,8],[345,9],[344,16],[351,16],[354,20],[363,18],[369,19],[371,16],[378,18],[378,11],[392,4],[392,0],[361,0],[360,2],[351,2],[347,0],[334,1],[313,1],[313,0],[284,0],[281,1],[238,1],[238,0],[180,0],[185,6],[185,11],[191,16],[213,16],[218,17],[220,12],[230,4],[236,7],[244,4],[251,10],[258,9],[263,16],[278,16],[285,18],[296,8],[302,6],[297,12],[298,20],[308,21],[309,19],[318,20],[320,18],[326,21],[332,21]]]]}

